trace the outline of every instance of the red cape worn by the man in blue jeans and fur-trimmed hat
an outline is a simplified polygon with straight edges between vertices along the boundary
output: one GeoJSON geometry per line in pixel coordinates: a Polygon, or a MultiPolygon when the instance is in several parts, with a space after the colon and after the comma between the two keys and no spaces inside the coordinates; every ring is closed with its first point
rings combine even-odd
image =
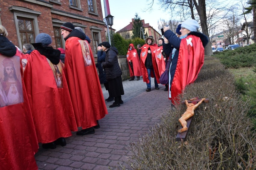
{"type": "MultiPolygon", "coordinates": [[[[144,44],[142,46],[142,50],[140,53],[140,60],[141,60],[141,70],[142,70],[143,82],[149,83],[148,71],[145,66],[145,60],[148,55],[148,48],[150,48],[150,50],[151,50],[152,63],[153,63],[153,68],[154,68],[154,72],[156,75],[157,83],[160,83],[159,82],[160,75],[159,75],[158,68],[157,68],[157,62],[155,59],[155,49],[157,48],[157,44],[153,44],[153,45],[144,44]]],[[[154,77],[153,72],[151,72],[151,77],[154,77]]]]}

